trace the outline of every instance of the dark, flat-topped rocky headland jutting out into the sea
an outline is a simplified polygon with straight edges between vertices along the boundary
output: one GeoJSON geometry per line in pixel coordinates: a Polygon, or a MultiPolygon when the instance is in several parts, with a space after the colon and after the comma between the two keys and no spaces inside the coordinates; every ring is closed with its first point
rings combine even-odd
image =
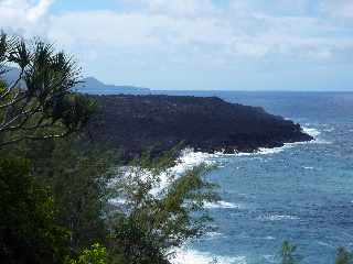
{"type": "Polygon", "coordinates": [[[196,151],[234,153],[312,140],[292,121],[216,97],[94,98],[100,107],[87,129],[92,139],[122,150],[127,158],[143,150],[158,154],[181,142],[196,151]]]}

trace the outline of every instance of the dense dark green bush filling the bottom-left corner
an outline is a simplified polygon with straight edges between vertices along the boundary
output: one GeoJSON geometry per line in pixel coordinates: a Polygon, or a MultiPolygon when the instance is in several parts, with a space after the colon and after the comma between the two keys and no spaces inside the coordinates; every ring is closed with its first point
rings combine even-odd
{"type": "Polygon", "coordinates": [[[55,223],[53,198],[26,160],[0,158],[0,194],[1,263],[61,263],[68,233],[55,223]]]}

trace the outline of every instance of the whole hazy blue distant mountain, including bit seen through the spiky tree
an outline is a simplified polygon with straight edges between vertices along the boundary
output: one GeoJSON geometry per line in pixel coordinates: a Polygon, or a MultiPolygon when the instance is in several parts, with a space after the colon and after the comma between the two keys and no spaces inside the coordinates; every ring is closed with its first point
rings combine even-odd
{"type": "MultiPolygon", "coordinates": [[[[13,67],[7,67],[8,72],[1,76],[4,81],[12,84],[19,77],[20,70],[13,67]]],[[[87,77],[82,80],[82,84],[77,85],[75,89],[83,94],[88,95],[150,95],[151,91],[148,88],[140,88],[133,86],[115,86],[105,85],[94,77],[87,77]]]]}

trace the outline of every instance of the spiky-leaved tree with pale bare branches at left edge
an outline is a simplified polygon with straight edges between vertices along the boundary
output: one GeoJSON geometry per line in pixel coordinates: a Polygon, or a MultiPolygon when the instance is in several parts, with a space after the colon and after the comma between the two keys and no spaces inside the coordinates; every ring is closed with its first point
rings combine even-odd
{"type": "Polygon", "coordinates": [[[81,129],[94,110],[75,94],[81,69],[52,44],[0,35],[0,148],[23,140],[62,138],[81,129]],[[10,67],[17,78],[6,81],[10,67]]]}

